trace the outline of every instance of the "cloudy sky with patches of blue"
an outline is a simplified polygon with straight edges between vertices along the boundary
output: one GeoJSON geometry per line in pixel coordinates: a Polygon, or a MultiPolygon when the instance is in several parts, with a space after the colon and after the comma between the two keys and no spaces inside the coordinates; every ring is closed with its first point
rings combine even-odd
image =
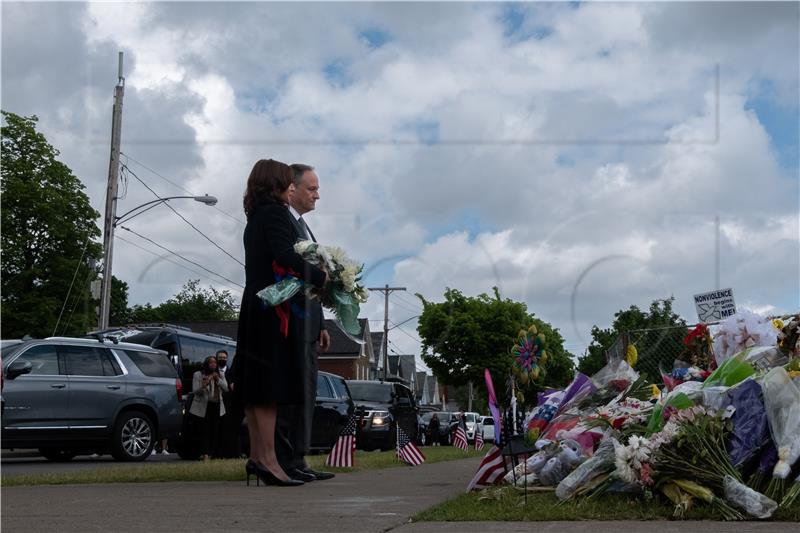
{"type": "MultiPolygon", "coordinates": [[[[498,286],[581,354],[631,304],[696,320],[717,279],[800,309],[799,24],[795,2],[3,2],[2,108],[39,116],[102,212],[123,51],[119,213],[153,198],[134,175],[212,194],[173,206],[241,259],[253,163],[310,163],[318,239],[407,287],[393,324],[414,293],[498,286]]],[[[168,209],[127,226],[227,278],[119,231],[132,303],[198,277],[239,294],[242,267],[168,209]]],[[[382,327],[379,295],[363,316],[382,327]]],[[[417,352],[415,326],[390,348],[417,352]]]]}

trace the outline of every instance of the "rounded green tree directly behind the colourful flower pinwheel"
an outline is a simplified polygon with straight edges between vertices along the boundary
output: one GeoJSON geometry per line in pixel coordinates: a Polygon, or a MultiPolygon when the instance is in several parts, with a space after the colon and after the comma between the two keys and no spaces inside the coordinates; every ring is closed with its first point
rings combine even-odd
{"type": "MultiPolygon", "coordinates": [[[[455,387],[472,382],[473,389],[482,390],[484,369],[488,368],[498,400],[505,402],[506,382],[513,362],[511,346],[519,331],[534,323],[547,338],[554,371],[542,383],[524,390],[530,396],[536,387],[563,386],[572,379],[571,356],[564,351],[558,330],[529,314],[524,303],[502,299],[496,287],[493,297],[487,294],[468,297],[448,288],[441,303],[417,296],[423,306],[417,327],[422,358],[440,382],[455,387]]],[[[484,398],[482,393],[476,393],[475,397],[484,398]]]]}

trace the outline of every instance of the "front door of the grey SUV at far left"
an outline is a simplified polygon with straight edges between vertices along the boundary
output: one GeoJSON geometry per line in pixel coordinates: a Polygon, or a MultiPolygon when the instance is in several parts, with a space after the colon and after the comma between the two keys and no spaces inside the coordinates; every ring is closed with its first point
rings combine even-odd
{"type": "Polygon", "coordinates": [[[31,346],[14,361],[28,361],[31,372],[6,380],[2,438],[5,444],[58,439],[68,429],[69,382],[55,345],[31,346]]]}

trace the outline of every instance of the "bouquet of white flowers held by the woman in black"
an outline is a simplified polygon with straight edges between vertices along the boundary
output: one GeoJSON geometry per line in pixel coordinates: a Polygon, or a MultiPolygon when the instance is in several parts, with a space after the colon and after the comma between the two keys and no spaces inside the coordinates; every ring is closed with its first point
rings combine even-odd
{"type": "Polygon", "coordinates": [[[277,283],[258,292],[258,297],[265,303],[277,306],[305,288],[310,298],[319,298],[326,309],[333,311],[339,327],[351,339],[362,343],[354,336],[361,333],[358,324],[360,304],[367,301],[368,291],[361,282],[364,266],[352,261],[341,248],[322,246],[313,241],[301,240],[294,245],[295,251],[309,263],[324,267],[328,271],[328,284],[321,292],[312,292],[303,281],[285,273],[277,283]]]}

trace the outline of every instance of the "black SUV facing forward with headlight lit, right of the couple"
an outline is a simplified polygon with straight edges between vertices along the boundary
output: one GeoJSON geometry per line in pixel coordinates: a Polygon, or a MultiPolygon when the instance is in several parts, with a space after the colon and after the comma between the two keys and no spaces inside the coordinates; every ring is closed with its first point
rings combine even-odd
{"type": "Polygon", "coordinates": [[[411,389],[391,381],[347,380],[359,417],[359,449],[391,450],[397,444],[397,427],[417,440],[419,408],[411,389]]]}

